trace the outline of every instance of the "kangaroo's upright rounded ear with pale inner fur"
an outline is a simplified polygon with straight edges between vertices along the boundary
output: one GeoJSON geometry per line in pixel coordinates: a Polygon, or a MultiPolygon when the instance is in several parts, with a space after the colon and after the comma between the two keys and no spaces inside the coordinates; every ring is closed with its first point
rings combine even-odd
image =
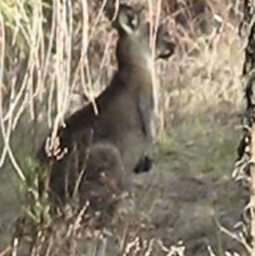
{"type": "Polygon", "coordinates": [[[122,4],[116,20],[113,21],[113,26],[121,34],[130,34],[139,26],[139,15],[131,7],[122,4]]]}

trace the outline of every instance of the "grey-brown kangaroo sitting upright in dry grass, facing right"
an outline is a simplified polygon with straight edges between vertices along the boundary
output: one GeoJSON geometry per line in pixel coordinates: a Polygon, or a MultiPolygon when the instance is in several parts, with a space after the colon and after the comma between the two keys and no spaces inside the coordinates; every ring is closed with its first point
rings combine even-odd
{"type": "MultiPolygon", "coordinates": [[[[59,127],[57,133],[59,151],[65,151],[60,160],[57,156],[48,157],[45,141],[37,153],[39,161],[51,169],[49,186],[62,199],[66,173],[70,187],[67,191],[73,191],[73,179],[81,169],[85,169],[84,177],[88,180],[98,179],[98,170],[107,169],[111,179],[117,179],[116,184],[122,187],[122,181],[127,182],[131,172],[146,172],[152,165],[151,64],[154,60],[150,24],[142,23],[139,14],[122,4],[112,26],[119,36],[117,70],[110,85],[95,99],[99,114],[95,115],[94,106],[89,103],[65,119],[65,127],[59,127]],[[86,151],[90,152],[88,157],[86,151]]],[[[156,60],[168,59],[174,46],[160,26],[156,33],[156,60]]],[[[82,178],[80,191],[85,179],[82,178]]]]}

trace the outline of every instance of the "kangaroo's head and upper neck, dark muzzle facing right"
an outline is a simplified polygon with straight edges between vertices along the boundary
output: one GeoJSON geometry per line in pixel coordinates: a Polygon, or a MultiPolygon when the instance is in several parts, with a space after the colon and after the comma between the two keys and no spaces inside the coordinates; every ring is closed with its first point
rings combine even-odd
{"type": "MultiPolygon", "coordinates": [[[[119,68],[146,66],[153,61],[150,46],[150,24],[142,23],[139,14],[122,4],[113,22],[119,34],[116,44],[116,59],[119,68]]],[[[156,31],[155,59],[169,58],[175,48],[164,26],[156,31]]]]}

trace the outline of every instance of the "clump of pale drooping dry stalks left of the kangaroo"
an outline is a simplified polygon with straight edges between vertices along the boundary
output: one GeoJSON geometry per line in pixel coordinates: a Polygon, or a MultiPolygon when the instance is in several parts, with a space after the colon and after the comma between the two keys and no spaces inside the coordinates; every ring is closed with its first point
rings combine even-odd
{"type": "Polygon", "coordinates": [[[79,6],[69,0],[48,3],[39,0],[29,6],[25,2],[13,4],[9,12],[14,15],[14,27],[1,16],[0,119],[4,146],[0,166],[9,156],[17,174],[24,179],[10,146],[14,132],[19,132],[15,129],[20,117],[26,115],[26,124],[32,126],[33,122],[40,125],[46,114],[48,127],[53,127],[55,134],[64,122],[77,74],[81,73],[83,89],[93,90],[91,82],[84,82],[84,78],[90,77],[88,42],[91,35],[87,1],[78,2],[79,6]],[[77,15],[78,23],[74,20],[77,15]],[[74,50],[77,36],[81,37],[82,48],[78,52],[81,53],[78,65],[74,56],[78,55],[74,50]]]}

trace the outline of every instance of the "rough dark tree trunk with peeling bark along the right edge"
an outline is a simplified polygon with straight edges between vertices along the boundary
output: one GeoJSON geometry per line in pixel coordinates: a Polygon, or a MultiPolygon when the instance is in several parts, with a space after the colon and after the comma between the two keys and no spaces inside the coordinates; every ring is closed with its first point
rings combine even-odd
{"type": "Polygon", "coordinates": [[[238,147],[238,156],[235,162],[235,171],[233,178],[241,182],[241,184],[248,190],[247,205],[242,214],[241,227],[242,230],[239,236],[236,236],[244,247],[246,247],[247,253],[254,254],[255,250],[255,236],[254,236],[254,209],[255,209],[255,169],[254,169],[254,157],[255,157],[255,105],[254,105],[254,71],[255,71],[255,22],[254,12],[252,9],[252,1],[244,2],[244,15],[242,22],[249,22],[251,29],[245,51],[245,61],[243,65],[242,75],[246,78],[246,111],[243,117],[243,133],[241,135],[241,142],[238,147]]]}

